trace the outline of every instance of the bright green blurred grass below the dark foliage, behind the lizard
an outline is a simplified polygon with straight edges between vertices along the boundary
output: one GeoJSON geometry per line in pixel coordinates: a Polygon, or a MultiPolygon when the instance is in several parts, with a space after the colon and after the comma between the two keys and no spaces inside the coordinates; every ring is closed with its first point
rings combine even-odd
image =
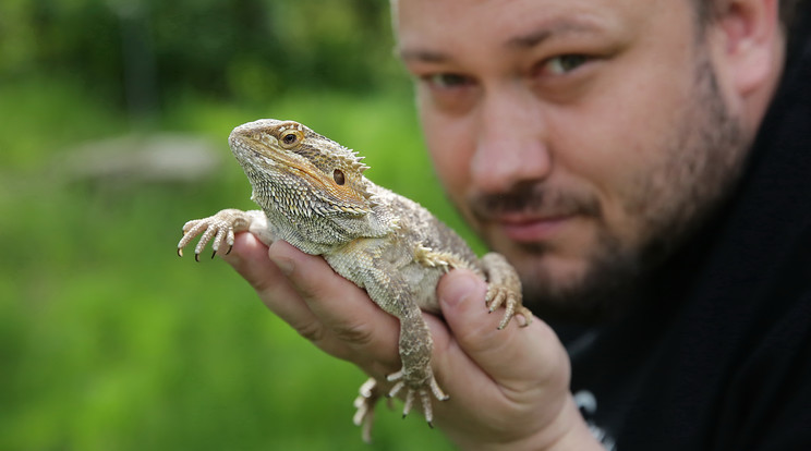
{"type": "Polygon", "coordinates": [[[261,117],[361,150],[373,180],[458,228],[408,96],[178,99],[153,130],[227,156],[198,183],[66,182],[55,161],[74,145],[138,127],[70,81],[0,85],[0,449],[450,449],[419,415],[385,409],[363,444],[351,425],[362,373],[269,314],[223,263],[174,255],[185,220],[252,207],[225,137],[261,117]]]}

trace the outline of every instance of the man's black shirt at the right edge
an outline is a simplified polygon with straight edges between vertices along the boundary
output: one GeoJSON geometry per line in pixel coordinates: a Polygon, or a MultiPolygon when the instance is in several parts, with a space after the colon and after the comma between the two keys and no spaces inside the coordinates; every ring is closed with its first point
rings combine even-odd
{"type": "Polygon", "coordinates": [[[569,340],[561,333],[572,392],[608,449],[811,450],[803,8],[780,86],[722,214],[654,276],[644,305],[569,340]]]}

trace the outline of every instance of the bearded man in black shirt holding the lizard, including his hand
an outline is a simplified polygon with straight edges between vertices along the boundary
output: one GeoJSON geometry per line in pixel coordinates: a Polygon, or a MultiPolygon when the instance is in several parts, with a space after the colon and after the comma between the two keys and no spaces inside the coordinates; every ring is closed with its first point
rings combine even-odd
{"type": "MultiPolygon", "coordinates": [[[[541,319],[497,331],[481,280],[440,282],[461,448],[811,449],[810,22],[779,7],[392,1],[437,173],[541,319]]],[[[396,320],[320,258],[242,234],[226,259],[324,351],[398,368],[396,320]]]]}

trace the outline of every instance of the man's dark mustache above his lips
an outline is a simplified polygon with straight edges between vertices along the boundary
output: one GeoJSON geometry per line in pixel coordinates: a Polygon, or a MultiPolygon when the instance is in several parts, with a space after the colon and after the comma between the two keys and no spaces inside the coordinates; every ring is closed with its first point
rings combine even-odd
{"type": "Polygon", "coordinates": [[[535,183],[520,185],[503,193],[477,193],[468,206],[479,220],[494,220],[505,216],[554,218],[584,215],[598,217],[600,202],[593,195],[576,191],[552,188],[535,183]]]}

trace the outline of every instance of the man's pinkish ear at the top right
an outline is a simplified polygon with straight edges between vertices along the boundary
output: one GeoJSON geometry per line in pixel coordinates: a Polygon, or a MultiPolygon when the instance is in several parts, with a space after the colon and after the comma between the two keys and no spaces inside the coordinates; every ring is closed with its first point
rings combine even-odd
{"type": "Polygon", "coordinates": [[[721,0],[715,10],[726,65],[734,86],[747,97],[764,83],[780,58],[778,0],[721,0]]]}

